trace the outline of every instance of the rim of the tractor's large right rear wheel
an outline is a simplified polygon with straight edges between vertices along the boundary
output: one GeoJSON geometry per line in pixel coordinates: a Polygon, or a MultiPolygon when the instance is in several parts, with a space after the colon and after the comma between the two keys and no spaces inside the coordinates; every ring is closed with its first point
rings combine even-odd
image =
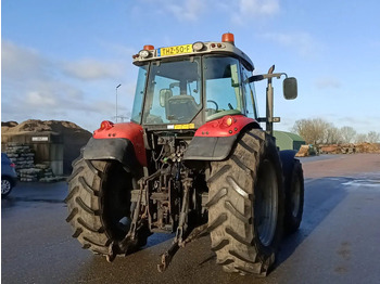
{"type": "Polygon", "coordinates": [[[264,246],[274,240],[277,225],[278,184],[277,175],[269,160],[264,160],[258,172],[255,216],[258,221],[257,234],[264,246]]]}

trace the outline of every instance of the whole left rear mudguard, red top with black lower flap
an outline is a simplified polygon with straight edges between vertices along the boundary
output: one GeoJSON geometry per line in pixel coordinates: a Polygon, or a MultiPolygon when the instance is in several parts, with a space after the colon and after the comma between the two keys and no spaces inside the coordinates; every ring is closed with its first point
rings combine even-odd
{"type": "Polygon", "coordinates": [[[134,122],[103,121],[84,149],[85,159],[115,159],[130,170],[147,166],[143,130],[134,122]]]}

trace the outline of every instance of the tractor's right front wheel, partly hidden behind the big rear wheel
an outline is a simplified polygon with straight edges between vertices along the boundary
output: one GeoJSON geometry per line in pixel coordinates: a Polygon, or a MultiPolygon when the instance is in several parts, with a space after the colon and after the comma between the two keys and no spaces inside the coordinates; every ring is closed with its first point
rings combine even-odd
{"type": "Polygon", "coordinates": [[[290,175],[284,177],[284,231],[291,234],[300,228],[304,207],[304,175],[299,159],[294,159],[290,175]]]}

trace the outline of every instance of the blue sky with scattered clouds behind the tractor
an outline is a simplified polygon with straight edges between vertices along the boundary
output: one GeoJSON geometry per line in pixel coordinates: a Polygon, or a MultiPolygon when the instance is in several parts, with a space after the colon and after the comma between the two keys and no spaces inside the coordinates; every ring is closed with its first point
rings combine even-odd
{"type": "MultiPolygon", "coordinates": [[[[68,120],[93,131],[130,117],[137,67],[155,48],[218,41],[224,33],[254,74],[296,77],[299,98],[275,87],[275,129],[322,118],[380,132],[378,0],[2,0],[1,120],[68,120]]],[[[265,116],[264,81],[256,82],[265,116]]]]}

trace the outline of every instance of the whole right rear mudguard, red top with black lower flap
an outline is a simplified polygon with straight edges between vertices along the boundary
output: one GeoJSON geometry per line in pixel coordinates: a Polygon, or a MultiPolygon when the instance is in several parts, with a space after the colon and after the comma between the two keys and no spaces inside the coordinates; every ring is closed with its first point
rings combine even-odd
{"type": "Polygon", "coordinates": [[[183,154],[183,160],[223,160],[227,158],[240,132],[249,125],[259,128],[256,120],[243,115],[228,115],[204,124],[197,130],[183,154]]]}

